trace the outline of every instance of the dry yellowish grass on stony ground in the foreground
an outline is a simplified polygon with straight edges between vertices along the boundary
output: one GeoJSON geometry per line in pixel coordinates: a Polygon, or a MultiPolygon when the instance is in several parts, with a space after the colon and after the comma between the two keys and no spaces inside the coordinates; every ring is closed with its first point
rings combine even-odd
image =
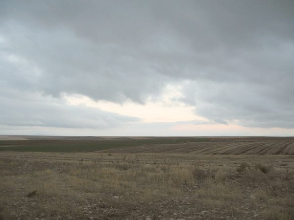
{"type": "Polygon", "coordinates": [[[294,219],[294,172],[278,162],[248,158],[236,172],[244,165],[232,157],[224,166],[213,157],[208,165],[143,154],[8,155],[0,155],[0,219],[294,219]]]}

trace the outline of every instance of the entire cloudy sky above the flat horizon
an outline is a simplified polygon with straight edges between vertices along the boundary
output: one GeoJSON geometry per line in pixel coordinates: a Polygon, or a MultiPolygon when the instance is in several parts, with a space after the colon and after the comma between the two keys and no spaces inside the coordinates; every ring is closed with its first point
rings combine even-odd
{"type": "Polygon", "coordinates": [[[294,1],[0,0],[0,134],[294,136],[294,1]]]}

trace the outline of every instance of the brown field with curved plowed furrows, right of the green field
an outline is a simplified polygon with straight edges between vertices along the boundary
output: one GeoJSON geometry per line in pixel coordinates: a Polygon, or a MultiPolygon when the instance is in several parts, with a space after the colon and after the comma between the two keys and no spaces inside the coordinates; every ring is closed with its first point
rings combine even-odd
{"type": "Polygon", "coordinates": [[[115,148],[104,153],[294,154],[294,137],[213,137],[207,142],[115,148]]]}

